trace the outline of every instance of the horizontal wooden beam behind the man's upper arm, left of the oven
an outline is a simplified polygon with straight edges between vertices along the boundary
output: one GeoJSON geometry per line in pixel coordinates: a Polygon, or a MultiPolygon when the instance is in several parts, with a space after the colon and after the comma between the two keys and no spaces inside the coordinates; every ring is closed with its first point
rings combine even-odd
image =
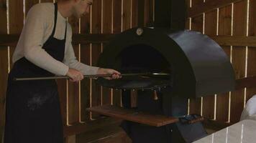
{"type": "MultiPolygon", "coordinates": [[[[107,43],[115,34],[73,34],[73,44],[107,43]]],[[[0,46],[16,46],[19,34],[0,34],[0,46]]]]}

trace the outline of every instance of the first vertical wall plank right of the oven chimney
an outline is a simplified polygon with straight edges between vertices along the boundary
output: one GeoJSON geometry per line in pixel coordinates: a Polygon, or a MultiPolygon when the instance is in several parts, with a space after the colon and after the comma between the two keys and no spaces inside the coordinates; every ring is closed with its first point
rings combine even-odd
{"type": "MultiPolygon", "coordinates": [[[[191,19],[191,29],[203,33],[203,15],[191,19]]],[[[190,114],[201,114],[201,98],[190,99],[190,114]]]]}

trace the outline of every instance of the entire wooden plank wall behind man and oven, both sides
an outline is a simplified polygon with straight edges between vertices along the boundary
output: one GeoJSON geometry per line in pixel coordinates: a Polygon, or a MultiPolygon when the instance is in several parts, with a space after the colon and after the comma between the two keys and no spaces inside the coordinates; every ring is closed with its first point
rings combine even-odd
{"type": "MultiPolygon", "coordinates": [[[[90,14],[81,19],[70,17],[68,21],[74,34],[118,34],[138,24],[139,0],[94,0],[90,14]]],[[[52,0],[0,0],[0,34],[20,34],[24,16],[31,6],[52,0]]],[[[144,25],[152,26],[154,0],[144,0],[144,25]]],[[[201,31],[211,37],[224,39],[229,36],[229,44],[221,47],[234,66],[237,79],[256,75],[256,49],[252,44],[235,41],[255,36],[256,0],[191,0],[188,1],[187,29],[201,31]],[[200,9],[198,9],[200,8],[200,9]],[[234,44],[234,45],[232,45],[234,44]]],[[[96,65],[105,44],[73,45],[78,60],[88,65],[96,65]]],[[[12,68],[14,46],[0,47],[0,140],[4,129],[6,79],[12,68]]],[[[63,123],[75,134],[76,127],[97,120],[99,115],[86,112],[87,107],[102,104],[122,106],[120,90],[99,87],[92,79],[78,84],[58,80],[63,123]]],[[[256,93],[256,87],[237,89],[234,92],[215,94],[199,99],[189,99],[189,113],[202,114],[218,122],[239,121],[245,102],[256,93]]],[[[136,106],[136,92],[132,92],[132,106],[136,106]]],[[[81,128],[79,128],[81,129],[81,128]]],[[[83,129],[82,129],[83,130],[83,129]]],[[[80,131],[81,132],[81,131],[80,131]]]]}

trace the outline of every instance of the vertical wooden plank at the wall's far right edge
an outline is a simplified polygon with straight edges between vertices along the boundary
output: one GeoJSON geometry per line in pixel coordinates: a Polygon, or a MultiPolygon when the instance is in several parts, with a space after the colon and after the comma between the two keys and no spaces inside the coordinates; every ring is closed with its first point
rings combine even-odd
{"type": "MultiPolygon", "coordinates": [[[[256,36],[256,1],[250,1],[250,13],[249,13],[249,36],[256,36]]],[[[247,77],[256,75],[256,49],[253,47],[248,47],[248,57],[247,57],[247,77]]],[[[256,94],[256,88],[247,88],[246,100],[250,99],[256,94]]]]}

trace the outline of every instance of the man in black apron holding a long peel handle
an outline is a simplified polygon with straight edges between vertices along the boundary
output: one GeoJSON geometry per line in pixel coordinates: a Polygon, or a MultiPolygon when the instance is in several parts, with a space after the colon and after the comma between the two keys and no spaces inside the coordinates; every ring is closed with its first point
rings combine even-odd
{"type": "Polygon", "coordinates": [[[14,82],[19,77],[66,75],[72,82],[83,74],[112,74],[114,69],[88,66],[76,60],[71,44],[69,16],[88,13],[92,0],[59,0],[58,4],[36,4],[27,19],[14,51],[6,94],[4,143],[63,142],[63,124],[55,80],[14,82]]]}

